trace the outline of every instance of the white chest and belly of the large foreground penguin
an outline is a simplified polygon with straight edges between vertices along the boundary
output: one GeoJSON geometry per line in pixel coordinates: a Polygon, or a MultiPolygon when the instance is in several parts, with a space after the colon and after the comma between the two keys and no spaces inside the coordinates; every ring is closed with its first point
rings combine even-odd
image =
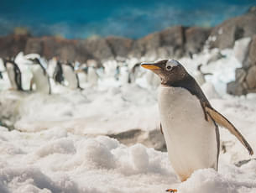
{"type": "Polygon", "coordinates": [[[184,88],[160,86],[159,112],[170,163],[180,180],[195,170],[216,168],[215,125],[206,122],[196,96],[184,88]]]}

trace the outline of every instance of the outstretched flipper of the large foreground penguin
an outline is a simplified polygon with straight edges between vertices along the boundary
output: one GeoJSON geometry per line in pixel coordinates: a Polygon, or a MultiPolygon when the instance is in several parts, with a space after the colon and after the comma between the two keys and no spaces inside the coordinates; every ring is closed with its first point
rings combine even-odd
{"type": "Polygon", "coordinates": [[[243,138],[243,135],[238,131],[232,123],[230,123],[226,117],[224,117],[221,113],[217,112],[212,107],[205,107],[206,113],[212,117],[212,119],[219,124],[220,126],[227,128],[230,133],[238,138],[238,140],[243,144],[243,146],[248,149],[250,155],[253,154],[253,149],[249,145],[249,143],[243,138]]]}

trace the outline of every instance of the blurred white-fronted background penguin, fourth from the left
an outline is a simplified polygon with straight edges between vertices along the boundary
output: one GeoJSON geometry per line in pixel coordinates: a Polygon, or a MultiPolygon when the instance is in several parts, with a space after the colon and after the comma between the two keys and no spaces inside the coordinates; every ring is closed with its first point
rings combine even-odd
{"type": "Polygon", "coordinates": [[[78,76],[76,74],[76,71],[74,69],[74,66],[71,64],[71,62],[65,62],[62,65],[62,71],[63,76],[65,78],[65,81],[68,82],[68,87],[71,89],[79,88],[81,89],[79,85],[78,76]]]}

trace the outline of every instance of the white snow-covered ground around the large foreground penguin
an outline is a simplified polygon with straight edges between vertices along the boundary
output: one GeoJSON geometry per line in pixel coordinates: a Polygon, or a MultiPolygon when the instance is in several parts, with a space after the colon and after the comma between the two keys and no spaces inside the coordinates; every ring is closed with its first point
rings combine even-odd
{"type": "MultiPolygon", "coordinates": [[[[226,84],[241,66],[232,50],[206,65],[217,50],[205,51],[180,62],[194,74],[203,64],[203,91],[212,107],[228,117],[256,151],[256,95],[231,97],[226,84]]],[[[26,70],[24,68],[24,70],[26,70]]],[[[14,123],[13,131],[0,127],[0,192],[256,192],[256,160],[225,128],[218,172],[197,170],[180,183],[167,153],[134,142],[125,145],[106,135],[131,129],[159,129],[157,89],[145,76],[137,84],[109,78],[97,87],[71,91],[54,87],[53,95],[7,91],[0,81],[1,117],[14,123]],[[239,161],[252,159],[238,167],[239,161]]]]}

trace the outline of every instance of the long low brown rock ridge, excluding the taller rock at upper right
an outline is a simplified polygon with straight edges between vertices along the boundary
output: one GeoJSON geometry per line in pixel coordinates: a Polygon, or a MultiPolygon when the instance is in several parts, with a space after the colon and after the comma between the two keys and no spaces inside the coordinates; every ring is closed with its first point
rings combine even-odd
{"type": "Polygon", "coordinates": [[[55,56],[60,60],[98,61],[118,57],[180,58],[187,53],[198,53],[208,38],[210,29],[174,26],[149,34],[141,39],[127,39],[110,36],[107,38],[63,39],[60,37],[31,37],[29,35],[9,35],[0,38],[0,57],[15,56],[20,51],[25,54],[38,53],[46,59],[55,56]]]}

